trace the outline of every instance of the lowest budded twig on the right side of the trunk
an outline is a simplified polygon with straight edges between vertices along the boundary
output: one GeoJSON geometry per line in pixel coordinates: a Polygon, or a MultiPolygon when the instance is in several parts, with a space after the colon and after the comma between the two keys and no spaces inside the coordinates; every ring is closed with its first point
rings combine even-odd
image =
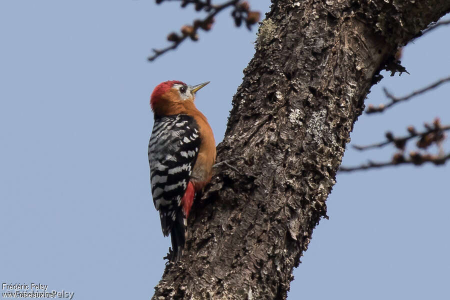
{"type": "Polygon", "coordinates": [[[432,162],[435,165],[442,165],[446,162],[446,160],[450,159],[450,153],[445,155],[433,155],[433,154],[420,154],[418,152],[410,152],[409,158],[404,158],[403,154],[396,153],[392,157],[390,161],[385,162],[374,162],[369,160],[365,164],[357,165],[357,166],[341,166],[339,167],[340,172],[351,172],[351,171],[357,171],[357,170],[365,170],[365,169],[371,169],[371,168],[380,168],[385,166],[391,166],[391,165],[399,165],[399,164],[414,164],[414,165],[421,165],[425,162],[432,162]]]}

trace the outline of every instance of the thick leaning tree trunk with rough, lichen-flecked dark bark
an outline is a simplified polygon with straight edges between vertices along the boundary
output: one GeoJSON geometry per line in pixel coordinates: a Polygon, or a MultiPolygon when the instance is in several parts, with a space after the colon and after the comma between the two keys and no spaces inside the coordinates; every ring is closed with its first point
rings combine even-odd
{"type": "Polygon", "coordinates": [[[153,299],[285,299],[379,70],[448,0],[273,0],[182,260],[153,299]]]}

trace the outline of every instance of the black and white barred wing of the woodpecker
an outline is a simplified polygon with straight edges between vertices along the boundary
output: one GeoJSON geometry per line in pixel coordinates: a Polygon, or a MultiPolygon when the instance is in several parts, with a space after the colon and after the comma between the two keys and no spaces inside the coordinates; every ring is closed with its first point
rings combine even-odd
{"type": "Polygon", "coordinates": [[[198,125],[193,117],[186,114],[155,117],[148,143],[148,161],[153,203],[159,210],[164,236],[170,233],[175,221],[182,222],[185,217],[181,198],[199,146],[198,125]]]}

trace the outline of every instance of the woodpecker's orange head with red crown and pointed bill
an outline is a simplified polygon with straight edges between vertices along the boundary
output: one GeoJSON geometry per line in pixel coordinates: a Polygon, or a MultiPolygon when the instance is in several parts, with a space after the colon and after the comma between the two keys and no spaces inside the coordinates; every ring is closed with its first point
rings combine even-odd
{"type": "Polygon", "coordinates": [[[158,115],[180,113],[183,108],[193,105],[195,92],[208,83],[206,81],[192,86],[178,80],[159,83],[151,93],[151,109],[158,115]]]}

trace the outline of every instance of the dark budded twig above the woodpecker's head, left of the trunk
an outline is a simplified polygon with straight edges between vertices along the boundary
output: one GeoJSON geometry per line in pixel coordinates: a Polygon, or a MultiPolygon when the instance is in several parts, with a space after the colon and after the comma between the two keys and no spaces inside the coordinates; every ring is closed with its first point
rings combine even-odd
{"type": "MultiPolygon", "coordinates": [[[[161,3],[163,1],[169,0],[156,0],[156,3],[161,3]]],[[[162,49],[152,49],[153,55],[149,56],[147,59],[149,61],[153,61],[158,56],[164,54],[165,52],[175,49],[178,45],[183,42],[187,37],[196,41],[198,40],[197,29],[202,28],[205,31],[208,31],[212,27],[212,23],[214,22],[214,16],[227,7],[234,7],[231,15],[234,18],[234,22],[236,26],[240,26],[242,21],[245,21],[245,24],[248,29],[251,28],[251,25],[257,23],[259,21],[259,12],[250,11],[249,5],[246,1],[239,2],[239,0],[229,0],[222,4],[212,4],[211,0],[171,0],[171,1],[179,1],[181,2],[181,7],[185,7],[188,4],[194,4],[195,10],[200,11],[204,10],[209,12],[209,14],[202,20],[196,19],[193,21],[192,25],[184,25],[181,27],[181,34],[176,32],[171,32],[167,35],[167,40],[171,41],[172,44],[162,48],[162,49]]]]}

